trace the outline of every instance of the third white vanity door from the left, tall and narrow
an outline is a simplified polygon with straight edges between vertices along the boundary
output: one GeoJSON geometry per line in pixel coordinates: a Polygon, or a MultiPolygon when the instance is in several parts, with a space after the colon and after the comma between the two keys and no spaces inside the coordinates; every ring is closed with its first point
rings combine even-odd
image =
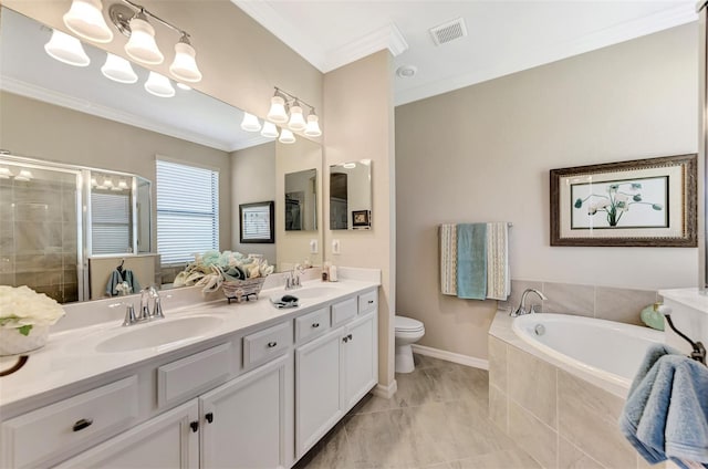
{"type": "Polygon", "coordinates": [[[302,457],[343,416],[341,389],[344,329],[295,348],[295,449],[302,457]]]}

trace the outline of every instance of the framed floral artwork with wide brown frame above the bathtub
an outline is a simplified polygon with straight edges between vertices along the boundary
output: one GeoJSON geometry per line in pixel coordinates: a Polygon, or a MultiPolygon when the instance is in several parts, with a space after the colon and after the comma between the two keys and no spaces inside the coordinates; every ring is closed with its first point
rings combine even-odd
{"type": "Polygon", "coordinates": [[[551,169],[551,246],[695,248],[697,155],[551,169]]]}

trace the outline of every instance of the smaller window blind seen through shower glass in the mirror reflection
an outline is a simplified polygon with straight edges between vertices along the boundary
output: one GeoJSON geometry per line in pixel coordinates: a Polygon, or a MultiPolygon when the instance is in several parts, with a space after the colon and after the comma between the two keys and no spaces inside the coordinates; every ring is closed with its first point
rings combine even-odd
{"type": "Polygon", "coordinates": [[[132,252],[131,194],[91,192],[91,252],[132,252]]]}

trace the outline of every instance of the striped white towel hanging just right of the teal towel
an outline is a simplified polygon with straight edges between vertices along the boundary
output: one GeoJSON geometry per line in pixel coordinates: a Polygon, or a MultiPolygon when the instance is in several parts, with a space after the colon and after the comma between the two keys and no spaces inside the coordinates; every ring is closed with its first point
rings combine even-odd
{"type": "Polygon", "coordinates": [[[506,301],[510,293],[509,223],[487,223],[487,298],[506,301]]]}

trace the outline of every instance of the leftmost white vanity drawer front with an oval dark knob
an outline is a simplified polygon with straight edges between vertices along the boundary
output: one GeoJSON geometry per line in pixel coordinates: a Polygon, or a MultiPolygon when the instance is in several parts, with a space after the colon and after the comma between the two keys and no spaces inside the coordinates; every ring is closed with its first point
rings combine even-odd
{"type": "Polygon", "coordinates": [[[2,467],[51,465],[128,428],[138,416],[137,376],[2,424],[2,467]]]}

